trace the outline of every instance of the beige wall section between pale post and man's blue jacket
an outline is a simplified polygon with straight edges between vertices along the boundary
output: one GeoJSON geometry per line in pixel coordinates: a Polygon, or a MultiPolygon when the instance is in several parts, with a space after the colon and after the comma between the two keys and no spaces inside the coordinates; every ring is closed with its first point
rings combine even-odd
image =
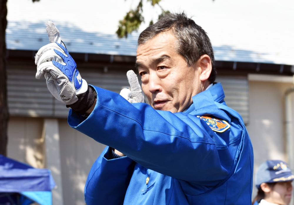
{"type": "Polygon", "coordinates": [[[84,187],[92,164],[105,145],[59,120],[64,205],[84,205],[84,187]]]}

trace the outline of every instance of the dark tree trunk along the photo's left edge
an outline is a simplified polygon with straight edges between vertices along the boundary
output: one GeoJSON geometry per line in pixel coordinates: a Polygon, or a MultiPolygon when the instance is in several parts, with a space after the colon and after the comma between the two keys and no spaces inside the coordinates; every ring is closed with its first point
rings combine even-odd
{"type": "Polygon", "coordinates": [[[0,0],[0,154],[7,154],[7,125],[9,120],[6,84],[6,43],[7,0],[0,0]]]}

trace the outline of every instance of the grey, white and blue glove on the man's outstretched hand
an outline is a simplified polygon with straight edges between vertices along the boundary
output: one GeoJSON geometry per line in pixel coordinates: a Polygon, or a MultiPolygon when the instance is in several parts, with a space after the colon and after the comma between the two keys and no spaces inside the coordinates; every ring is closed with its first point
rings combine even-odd
{"type": "Polygon", "coordinates": [[[95,91],[81,78],[52,21],[47,21],[46,31],[51,43],[39,49],[35,56],[36,79],[44,76],[48,90],[57,100],[84,114],[93,104],[95,91]]]}

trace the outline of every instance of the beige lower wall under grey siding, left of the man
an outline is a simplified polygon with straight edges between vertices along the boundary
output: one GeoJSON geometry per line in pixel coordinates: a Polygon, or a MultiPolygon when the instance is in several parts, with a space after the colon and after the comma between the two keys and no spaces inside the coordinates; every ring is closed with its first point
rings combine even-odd
{"type": "Polygon", "coordinates": [[[72,129],[67,124],[67,119],[56,119],[59,127],[60,159],[56,159],[58,150],[46,156],[45,140],[42,139],[46,120],[48,119],[11,117],[7,156],[36,168],[49,168],[46,167],[46,162],[53,161],[51,164],[54,165],[54,162],[60,161],[61,170],[51,169],[56,184],[60,183],[53,190],[53,204],[85,205],[84,186],[88,172],[105,146],[72,129]]]}

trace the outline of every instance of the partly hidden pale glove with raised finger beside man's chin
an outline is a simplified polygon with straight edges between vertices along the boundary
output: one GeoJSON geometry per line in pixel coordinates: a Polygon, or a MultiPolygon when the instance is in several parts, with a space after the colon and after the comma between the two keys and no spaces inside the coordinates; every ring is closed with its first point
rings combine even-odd
{"type": "Polygon", "coordinates": [[[129,70],[127,72],[127,77],[131,90],[124,88],[121,90],[120,95],[130,103],[145,102],[144,95],[135,72],[133,70],[129,70]]]}

